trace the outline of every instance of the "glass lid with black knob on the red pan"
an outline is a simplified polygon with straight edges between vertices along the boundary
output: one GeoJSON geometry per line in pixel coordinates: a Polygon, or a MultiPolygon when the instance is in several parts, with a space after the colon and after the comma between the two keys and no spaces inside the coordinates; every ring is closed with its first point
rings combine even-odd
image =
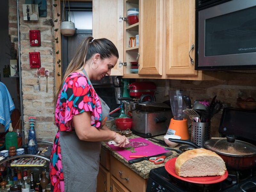
{"type": "Polygon", "coordinates": [[[223,138],[207,140],[204,147],[216,153],[228,156],[253,156],[256,155],[256,146],[235,140],[235,138],[223,138]]]}

